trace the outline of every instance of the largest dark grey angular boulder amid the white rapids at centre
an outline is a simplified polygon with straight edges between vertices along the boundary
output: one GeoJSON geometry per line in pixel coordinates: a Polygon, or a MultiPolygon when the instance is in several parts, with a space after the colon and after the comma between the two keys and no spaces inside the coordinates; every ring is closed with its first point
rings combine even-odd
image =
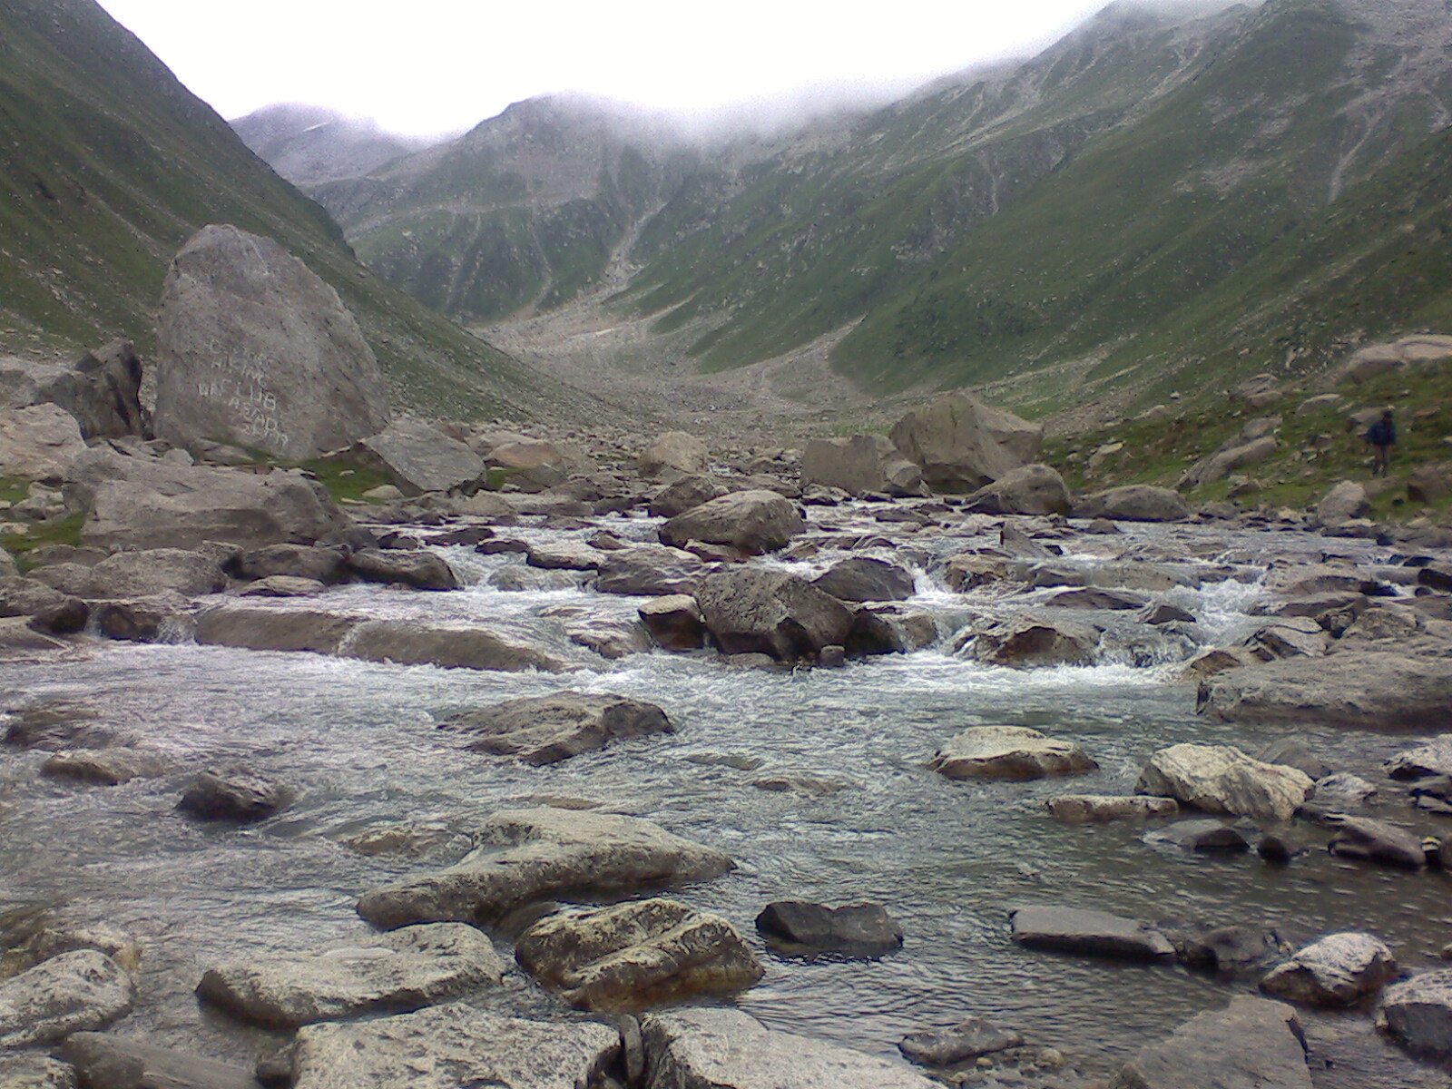
{"type": "Polygon", "coordinates": [[[765,568],[729,568],[707,576],[696,600],[725,653],[765,653],[796,661],[842,646],[852,613],[797,575],[765,568]]]}

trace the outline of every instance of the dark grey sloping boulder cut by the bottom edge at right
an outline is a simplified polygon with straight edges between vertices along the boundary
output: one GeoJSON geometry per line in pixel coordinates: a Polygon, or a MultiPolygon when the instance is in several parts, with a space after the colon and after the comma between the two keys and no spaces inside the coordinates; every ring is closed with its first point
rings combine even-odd
{"type": "Polygon", "coordinates": [[[1305,1032],[1284,1002],[1236,998],[1141,1048],[1109,1089],[1311,1089],[1305,1032]]]}

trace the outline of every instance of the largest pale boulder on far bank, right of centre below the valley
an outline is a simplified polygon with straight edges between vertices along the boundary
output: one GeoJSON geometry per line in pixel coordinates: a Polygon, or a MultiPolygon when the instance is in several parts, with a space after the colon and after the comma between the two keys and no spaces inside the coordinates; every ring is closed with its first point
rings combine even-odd
{"type": "Polygon", "coordinates": [[[1044,428],[958,392],[909,412],[890,437],[931,488],[971,492],[1034,462],[1044,428]]]}

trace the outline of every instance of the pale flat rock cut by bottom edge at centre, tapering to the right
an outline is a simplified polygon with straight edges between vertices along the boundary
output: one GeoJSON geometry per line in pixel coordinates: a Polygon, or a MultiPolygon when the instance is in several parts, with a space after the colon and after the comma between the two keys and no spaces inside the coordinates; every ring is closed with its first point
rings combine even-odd
{"type": "MultiPolygon", "coordinates": [[[[642,1021],[646,1089],[935,1089],[905,1066],[774,1032],[735,1009],[682,1009],[642,1021]]],[[[301,1088],[299,1088],[301,1089],[301,1088]]]]}

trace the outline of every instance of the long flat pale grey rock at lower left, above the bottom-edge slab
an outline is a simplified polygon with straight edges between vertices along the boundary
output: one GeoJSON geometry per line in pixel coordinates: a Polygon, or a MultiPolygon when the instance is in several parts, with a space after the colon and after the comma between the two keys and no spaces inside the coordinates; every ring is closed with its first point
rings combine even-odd
{"type": "Polygon", "coordinates": [[[347,945],[218,964],[206,970],[196,993],[245,1021],[296,1028],[418,1009],[502,979],[504,963],[482,931],[439,922],[347,945]]]}

